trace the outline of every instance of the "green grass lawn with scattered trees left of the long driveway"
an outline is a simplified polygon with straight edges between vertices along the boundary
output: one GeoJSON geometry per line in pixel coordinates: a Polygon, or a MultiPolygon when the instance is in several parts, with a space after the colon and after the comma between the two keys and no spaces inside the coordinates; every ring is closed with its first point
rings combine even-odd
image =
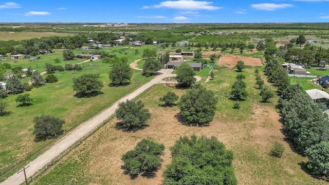
{"type": "MultiPolygon", "coordinates": [[[[141,54],[132,56],[134,50],[127,52],[131,54],[129,61],[141,57],[141,54]]],[[[120,54],[117,56],[120,56],[120,54]]],[[[61,61],[61,63],[55,65],[74,64],[77,61],[79,60],[61,61]]],[[[42,60],[38,61],[38,66],[43,66],[43,63],[44,61],[42,60]]],[[[22,64],[21,66],[25,68],[26,66],[24,65],[22,64]]],[[[10,105],[10,114],[2,117],[0,121],[0,172],[12,166],[16,160],[27,159],[30,152],[33,154],[33,152],[52,141],[52,139],[40,142],[34,141],[32,132],[33,118],[35,116],[49,114],[62,118],[66,121],[64,129],[69,131],[152,79],[152,77],[145,78],[140,71],[134,70],[130,85],[110,87],[108,71],[111,67],[108,64],[103,64],[101,60],[95,60],[92,63],[85,63],[81,66],[84,67],[82,71],[57,71],[55,74],[59,78],[58,83],[46,84],[40,88],[33,88],[32,91],[25,92],[30,94],[30,97],[33,99],[33,105],[29,107],[17,107],[18,104],[15,102],[17,95],[9,95],[6,98],[10,105]],[[104,83],[104,87],[101,90],[102,94],[89,98],[74,96],[72,79],[85,73],[100,74],[100,79],[104,83]]],[[[44,77],[46,76],[47,74],[44,77]]],[[[28,78],[25,77],[23,80],[28,81],[28,78]]],[[[1,178],[5,177],[1,176],[1,178]]]]}

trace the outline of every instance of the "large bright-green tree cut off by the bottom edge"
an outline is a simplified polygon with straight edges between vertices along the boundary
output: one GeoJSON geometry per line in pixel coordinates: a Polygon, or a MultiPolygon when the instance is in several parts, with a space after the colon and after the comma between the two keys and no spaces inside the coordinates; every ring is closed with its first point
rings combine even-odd
{"type": "Polygon", "coordinates": [[[170,150],[172,161],[163,171],[164,184],[237,184],[233,152],[216,137],[180,137],[170,150]]]}

